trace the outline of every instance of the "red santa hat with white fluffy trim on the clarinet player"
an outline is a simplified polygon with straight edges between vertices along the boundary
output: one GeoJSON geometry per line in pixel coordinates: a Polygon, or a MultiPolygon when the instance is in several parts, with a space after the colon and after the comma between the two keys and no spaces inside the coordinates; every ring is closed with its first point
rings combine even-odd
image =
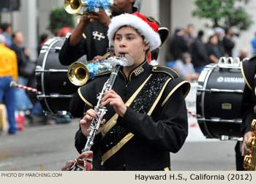
{"type": "Polygon", "coordinates": [[[121,26],[132,26],[132,28],[135,28],[144,37],[144,42],[150,46],[149,50],[154,50],[161,45],[161,39],[157,33],[157,23],[150,22],[143,15],[140,15],[139,12],[135,12],[118,15],[111,19],[111,23],[108,26],[110,46],[114,45],[116,31],[121,26]]]}

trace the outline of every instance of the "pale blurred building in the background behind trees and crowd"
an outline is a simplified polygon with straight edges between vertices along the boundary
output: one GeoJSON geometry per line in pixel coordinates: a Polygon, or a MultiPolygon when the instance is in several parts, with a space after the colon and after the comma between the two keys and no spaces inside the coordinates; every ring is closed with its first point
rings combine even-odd
{"type": "MultiPolygon", "coordinates": [[[[1,5],[5,1],[15,0],[1,0],[1,5]]],[[[206,20],[201,20],[192,17],[192,10],[195,9],[195,0],[143,0],[140,12],[143,15],[152,16],[160,20],[162,25],[170,28],[170,34],[173,34],[177,26],[187,26],[192,23],[195,25],[195,35],[199,29],[203,29],[206,33],[205,39],[213,31],[206,29],[204,24],[206,20]]],[[[241,2],[242,3],[242,2],[241,2]]],[[[0,7],[1,7],[0,5],[0,7]]],[[[49,15],[52,9],[56,7],[63,7],[64,0],[20,0],[20,7],[18,11],[1,12],[0,20],[3,22],[12,23],[14,31],[22,31],[25,37],[24,46],[31,50],[31,58],[37,59],[37,39],[40,34],[48,33],[49,15]]],[[[252,16],[252,20],[256,20],[255,9],[256,1],[249,1],[248,4],[243,4],[247,12],[252,16]]],[[[255,23],[248,31],[244,31],[236,42],[235,53],[238,50],[246,47],[251,49],[250,41],[255,35],[255,23]]],[[[165,47],[160,50],[160,61],[164,61],[165,47]]],[[[160,62],[161,64],[163,64],[160,62]]]]}

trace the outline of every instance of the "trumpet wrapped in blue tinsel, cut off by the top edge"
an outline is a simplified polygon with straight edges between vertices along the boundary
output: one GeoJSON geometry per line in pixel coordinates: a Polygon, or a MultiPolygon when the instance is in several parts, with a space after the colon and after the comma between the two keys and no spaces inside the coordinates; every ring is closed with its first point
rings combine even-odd
{"type": "Polygon", "coordinates": [[[89,12],[99,12],[99,7],[105,9],[106,12],[111,12],[113,0],[64,0],[64,9],[69,14],[80,15],[84,17],[89,15],[89,12]],[[80,10],[83,9],[81,12],[80,10]]]}

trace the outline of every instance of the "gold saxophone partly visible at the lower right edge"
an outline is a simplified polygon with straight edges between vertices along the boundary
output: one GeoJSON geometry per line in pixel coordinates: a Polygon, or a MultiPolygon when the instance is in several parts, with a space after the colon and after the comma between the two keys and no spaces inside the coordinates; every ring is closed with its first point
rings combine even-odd
{"type": "Polygon", "coordinates": [[[256,170],[256,119],[252,120],[251,131],[254,136],[250,137],[247,146],[252,149],[252,154],[244,157],[244,170],[255,171],[256,170]]]}

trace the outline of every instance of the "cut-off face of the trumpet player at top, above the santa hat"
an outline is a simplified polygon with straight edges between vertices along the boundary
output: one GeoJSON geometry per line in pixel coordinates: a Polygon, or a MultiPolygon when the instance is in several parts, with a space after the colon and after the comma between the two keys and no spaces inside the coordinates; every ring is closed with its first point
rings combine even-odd
{"type": "Polygon", "coordinates": [[[132,2],[135,0],[114,0],[114,4],[112,7],[113,15],[120,15],[124,12],[129,12],[129,7],[131,7],[132,2]]]}

